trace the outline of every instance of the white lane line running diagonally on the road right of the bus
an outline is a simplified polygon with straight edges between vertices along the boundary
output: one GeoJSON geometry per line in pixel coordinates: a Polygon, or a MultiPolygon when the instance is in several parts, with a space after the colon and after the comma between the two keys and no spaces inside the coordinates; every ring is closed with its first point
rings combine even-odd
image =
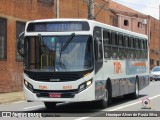
{"type": "MultiPolygon", "coordinates": [[[[152,100],[152,99],[155,99],[155,98],[157,98],[157,97],[160,97],[160,94],[159,94],[159,95],[156,95],[156,96],[153,96],[153,97],[150,97],[150,98],[148,98],[148,99],[149,99],[149,100],[152,100]]],[[[128,104],[128,105],[123,105],[123,106],[118,107],[118,108],[113,108],[113,109],[110,109],[110,110],[107,110],[107,111],[120,110],[120,109],[129,107],[129,106],[136,105],[136,104],[141,103],[141,102],[142,102],[142,100],[141,100],[141,101],[134,102],[134,103],[131,103],[131,104],[128,104]]],[[[93,116],[96,116],[96,115],[99,115],[99,114],[101,114],[101,113],[93,114],[93,115],[90,115],[90,116],[88,116],[88,117],[77,118],[77,119],[75,119],[75,120],[84,120],[84,119],[88,119],[88,118],[90,118],[90,117],[93,117],[93,116]]]]}

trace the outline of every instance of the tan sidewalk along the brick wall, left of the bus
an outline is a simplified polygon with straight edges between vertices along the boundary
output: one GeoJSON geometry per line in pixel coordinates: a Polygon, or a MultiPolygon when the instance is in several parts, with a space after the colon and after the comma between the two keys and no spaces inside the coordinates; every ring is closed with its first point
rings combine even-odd
{"type": "Polygon", "coordinates": [[[24,101],[23,91],[0,94],[0,104],[18,102],[18,101],[24,101]]]}

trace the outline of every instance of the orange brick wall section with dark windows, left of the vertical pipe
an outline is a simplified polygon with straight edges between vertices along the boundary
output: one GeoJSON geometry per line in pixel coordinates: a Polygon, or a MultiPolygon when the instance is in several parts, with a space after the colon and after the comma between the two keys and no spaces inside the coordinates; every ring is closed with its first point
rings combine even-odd
{"type": "Polygon", "coordinates": [[[53,18],[53,6],[53,0],[0,0],[0,93],[22,90],[17,37],[27,21],[53,18]]]}

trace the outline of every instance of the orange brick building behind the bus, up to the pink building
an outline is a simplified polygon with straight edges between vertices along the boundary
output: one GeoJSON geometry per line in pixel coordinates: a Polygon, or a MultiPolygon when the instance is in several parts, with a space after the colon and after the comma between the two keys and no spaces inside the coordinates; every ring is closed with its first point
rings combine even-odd
{"type": "MultiPolygon", "coordinates": [[[[0,0],[0,93],[22,90],[23,62],[17,53],[18,35],[25,23],[34,19],[56,18],[56,0],[0,0]]],[[[96,20],[112,24],[116,17],[109,2],[95,0],[96,20]],[[110,15],[112,18],[110,18],[110,15]]],[[[60,18],[87,18],[88,0],[59,0],[60,18]]]]}

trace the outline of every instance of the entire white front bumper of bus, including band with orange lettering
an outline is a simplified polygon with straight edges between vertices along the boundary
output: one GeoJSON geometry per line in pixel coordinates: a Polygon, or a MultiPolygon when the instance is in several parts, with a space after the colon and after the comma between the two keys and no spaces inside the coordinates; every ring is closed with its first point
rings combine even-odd
{"type": "MultiPolygon", "coordinates": [[[[93,74],[93,73],[91,73],[93,74]]],[[[24,74],[25,81],[33,89],[29,89],[24,83],[24,94],[27,101],[42,102],[81,102],[95,100],[95,85],[92,84],[80,91],[79,86],[85,81],[91,80],[93,75],[81,78],[76,81],[67,82],[40,82],[30,79],[24,74]],[[63,89],[64,86],[72,86],[71,89],[63,89]],[[49,94],[61,94],[61,97],[50,97],[49,94]]]]}

